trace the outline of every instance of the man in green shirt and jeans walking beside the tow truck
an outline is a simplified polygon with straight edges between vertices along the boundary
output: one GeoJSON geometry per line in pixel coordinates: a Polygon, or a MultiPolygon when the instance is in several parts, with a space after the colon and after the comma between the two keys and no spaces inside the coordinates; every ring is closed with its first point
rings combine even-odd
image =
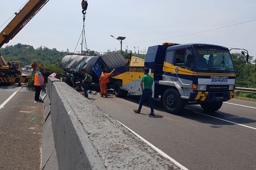
{"type": "Polygon", "coordinates": [[[142,95],[140,97],[140,104],[139,104],[139,109],[133,109],[133,111],[135,113],[140,113],[140,110],[142,108],[143,102],[145,101],[145,99],[148,99],[148,103],[150,105],[150,109],[151,112],[149,115],[155,115],[154,114],[154,107],[153,107],[153,102],[152,102],[152,85],[153,85],[153,77],[151,75],[148,74],[149,69],[148,68],[144,68],[144,76],[141,79],[140,82],[140,87],[142,90],[142,95]],[[144,87],[143,87],[143,83],[144,83],[144,87]]]}

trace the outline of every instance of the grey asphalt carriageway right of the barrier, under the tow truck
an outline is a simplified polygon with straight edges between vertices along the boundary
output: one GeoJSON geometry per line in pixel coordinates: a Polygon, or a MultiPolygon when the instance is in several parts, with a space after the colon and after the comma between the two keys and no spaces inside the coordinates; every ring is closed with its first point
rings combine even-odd
{"type": "Polygon", "coordinates": [[[182,114],[173,115],[155,100],[156,116],[147,116],[147,102],[140,114],[133,113],[139,98],[109,94],[108,98],[95,95],[90,100],[189,170],[256,169],[255,102],[232,99],[215,113],[190,105],[182,114]]]}

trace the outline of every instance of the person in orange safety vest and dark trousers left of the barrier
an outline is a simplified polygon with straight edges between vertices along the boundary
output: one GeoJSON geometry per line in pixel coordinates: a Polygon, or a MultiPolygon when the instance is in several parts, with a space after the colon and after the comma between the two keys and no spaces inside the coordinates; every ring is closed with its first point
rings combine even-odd
{"type": "Polygon", "coordinates": [[[40,91],[42,89],[42,86],[44,85],[44,68],[40,68],[38,72],[35,73],[35,101],[42,101],[42,99],[39,99],[40,91]]]}

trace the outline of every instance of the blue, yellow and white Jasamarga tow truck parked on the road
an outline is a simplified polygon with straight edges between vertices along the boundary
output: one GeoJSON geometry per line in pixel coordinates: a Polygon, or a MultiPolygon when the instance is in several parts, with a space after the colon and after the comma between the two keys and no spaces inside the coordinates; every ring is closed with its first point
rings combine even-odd
{"type": "MultiPolygon", "coordinates": [[[[230,49],[231,50],[231,49],[230,49]]],[[[230,50],[212,44],[163,43],[151,46],[140,65],[117,68],[111,75],[116,97],[129,92],[142,94],[140,82],[144,67],[153,77],[153,98],[159,98],[166,111],[181,113],[185,105],[198,105],[208,111],[219,110],[222,103],[236,96],[236,74],[230,50]]],[[[246,55],[248,51],[241,49],[246,55]]],[[[134,58],[133,58],[134,60],[134,58]]]]}

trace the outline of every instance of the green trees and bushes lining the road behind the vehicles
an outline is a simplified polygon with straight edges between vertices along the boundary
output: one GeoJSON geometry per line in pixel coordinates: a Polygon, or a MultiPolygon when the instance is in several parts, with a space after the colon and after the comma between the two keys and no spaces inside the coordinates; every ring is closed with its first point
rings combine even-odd
{"type": "MultiPolygon", "coordinates": [[[[107,50],[106,52],[97,52],[94,50],[83,51],[84,54],[89,54],[91,56],[100,56],[102,54],[113,53],[116,51],[107,50]]],[[[120,52],[120,50],[119,50],[120,52]]],[[[79,52],[76,52],[79,53],[79,52]]],[[[40,46],[39,48],[34,48],[31,45],[16,44],[11,46],[6,46],[5,48],[0,48],[0,54],[4,56],[5,61],[21,61],[22,65],[31,65],[34,61],[39,64],[39,67],[44,67],[46,72],[45,75],[49,76],[53,72],[56,73],[56,78],[60,78],[65,73],[59,64],[65,55],[70,54],[69,50],[58,51],[56,48],[49,49],[45,46],[40,46]]],[[[144,54],[142,51],[132,52],[132,50],[125,49],[123,51],[123,56],[131,54],[133,56],[145,59],[146,51],[144,54]]],[[[242,64],[245,62],[245,56],[240,53],[232,53],[231,57],[233,59],[234,68],[238,70],[242,64]]],[[[249,57],[248,64],[245,64],[240,71],[236,72],[236,87],[245,88],[256,88],[256,59],[253,56],[249,57]]],[[[33,76],[29,80],[29,88],[33,87],[33,76]]],[[[256,94],[249,93],[238,93],[238,97],[246,97],[256,99],[256,94]]]]}

